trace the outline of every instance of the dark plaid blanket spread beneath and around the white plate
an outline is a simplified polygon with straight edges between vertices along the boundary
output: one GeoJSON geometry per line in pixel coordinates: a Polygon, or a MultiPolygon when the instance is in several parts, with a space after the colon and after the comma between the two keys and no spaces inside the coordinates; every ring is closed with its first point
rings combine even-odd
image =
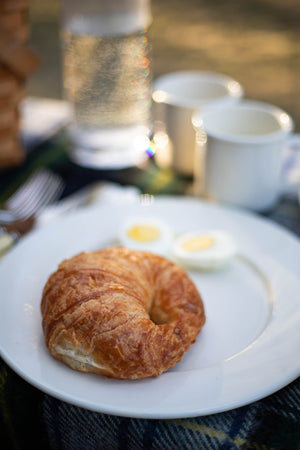
{"type": "MultiPolygon", "coordinates": [[[[101,172],[74,166],[62,136],[28,155],[21,168],[0,177],[0,203],[41,166],[66,180],[64,195],[96,180],[134,184],[152,194],[183,194],[190,180],[147,169],[101,172]]],[[[300,236],[300,209],[286,197],[268,215],[300,236]]],[[[3,299],[2,299],[3,300],[3,299]]],[[[3,449],[300,449],[300,378],[279,392],[231,411],[177,420],[146,420],[91,412],[26,383],[0,359],[0,442],[3,449]]]]}

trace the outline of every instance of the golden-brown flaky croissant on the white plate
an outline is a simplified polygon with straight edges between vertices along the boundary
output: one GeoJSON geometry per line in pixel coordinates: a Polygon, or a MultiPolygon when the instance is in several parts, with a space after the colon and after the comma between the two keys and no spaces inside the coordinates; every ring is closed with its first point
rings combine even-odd
{"type": "Polygon", "coordinates": [[[173,367],[205,322],[200,294],[181,267],[124,247],[64,260],[45,284],[41,312],[55,358],[119,379],[173,367]]]}

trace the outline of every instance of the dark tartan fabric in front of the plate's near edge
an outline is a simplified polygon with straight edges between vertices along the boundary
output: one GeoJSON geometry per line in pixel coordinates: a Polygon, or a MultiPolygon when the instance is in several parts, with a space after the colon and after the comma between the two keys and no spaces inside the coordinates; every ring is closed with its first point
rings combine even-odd
{"type": "Polygon", "coordinates": [[[88,411],[44,394],[0,360],[2,448],[43,450],[297,450],[300,378],[231,411],[172,420],[88,411]]]}

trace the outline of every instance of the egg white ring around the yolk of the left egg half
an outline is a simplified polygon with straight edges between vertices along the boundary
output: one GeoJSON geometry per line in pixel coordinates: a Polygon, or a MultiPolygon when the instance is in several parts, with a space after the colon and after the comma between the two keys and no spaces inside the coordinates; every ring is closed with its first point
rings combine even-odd
{"type": "Polygon", "coordinates": [[[121,224],[118,240],[121,245],[131,250],[147,250],[158,255],[167,256],[173,241],[169,225],[156,217],[131,217],[121,224]],[[137,226],[150,226],[157,230],[157,236],[149,241],[140,241],[129,235],[137,226]]]}

